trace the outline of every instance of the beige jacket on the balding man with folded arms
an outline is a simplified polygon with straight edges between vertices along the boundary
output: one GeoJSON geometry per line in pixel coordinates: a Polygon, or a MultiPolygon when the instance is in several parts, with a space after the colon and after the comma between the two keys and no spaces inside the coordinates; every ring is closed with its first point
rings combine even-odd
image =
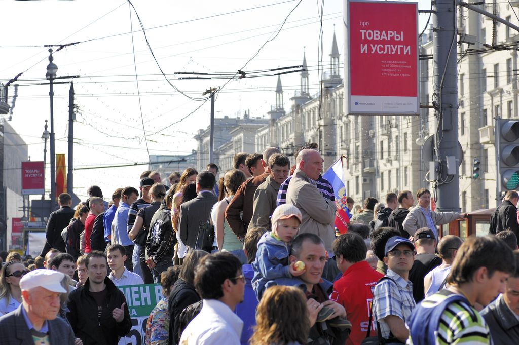
{"type": "Polygon", "coordinates": [[[303,222],[299,227],[299,233],[317,234],[323,240],[326,250],[331,251],[335,239],[335,203],[324,198],[301,170],[296,169],[293,176],[286,190],[286,203],[296,206],[301,211],[303,222]]]}

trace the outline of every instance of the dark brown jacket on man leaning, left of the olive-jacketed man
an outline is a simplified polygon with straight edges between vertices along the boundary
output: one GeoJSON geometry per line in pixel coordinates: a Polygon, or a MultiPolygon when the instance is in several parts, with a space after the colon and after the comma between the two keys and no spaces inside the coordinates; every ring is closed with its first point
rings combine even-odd
{"type": "Polygon", "coordinates": [[[254,192],[268,176],[268,172],[243,182],[225,209],[225,219],[236,236],[244,238],[254,211],[254,192]],[[242,216],[240,218],[240,213],[242,216]]]}

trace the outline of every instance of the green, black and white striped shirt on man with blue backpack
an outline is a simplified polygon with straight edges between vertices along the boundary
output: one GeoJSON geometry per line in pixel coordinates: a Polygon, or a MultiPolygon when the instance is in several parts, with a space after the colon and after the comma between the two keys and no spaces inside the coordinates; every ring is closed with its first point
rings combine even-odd
{"type": "MultiPolygon", "coordinates": [[[[431,307],[447,296],[434,294],[422,301],[424,307],[431,307]]],[[[407,342],[413,344],[411,337],[407,342]]],[[[479,312],[466,302],[450,303],[442,313],[435,345],[490,344],[490,332],[479,312]]]]}

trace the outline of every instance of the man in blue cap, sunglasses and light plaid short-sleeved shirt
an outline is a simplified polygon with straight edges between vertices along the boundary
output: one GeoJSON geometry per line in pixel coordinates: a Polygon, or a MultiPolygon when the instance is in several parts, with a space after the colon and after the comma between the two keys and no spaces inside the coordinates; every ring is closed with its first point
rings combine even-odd
{"type": "Polygon", "coordinates": [[[416,307],[413,284],[409,281],[414,250],[414,244],[400,236],[386,242],[384,264],[388,270],[373,293],[373,319],[386,344],[405,343],[409,337],[405,321],[416,307]]]}

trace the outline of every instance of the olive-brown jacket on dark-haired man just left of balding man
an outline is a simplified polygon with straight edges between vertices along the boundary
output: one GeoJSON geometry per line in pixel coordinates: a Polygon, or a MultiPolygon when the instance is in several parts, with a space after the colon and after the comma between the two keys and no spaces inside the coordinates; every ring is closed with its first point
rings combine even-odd
{"type": "Polygon", "coordinates": [[[254,192],[254,210],[247,231],[257,226],[270,231],[270,216],[276,209],[279,186],[280,184],[270,175],[258,186],[254,192]]]}

